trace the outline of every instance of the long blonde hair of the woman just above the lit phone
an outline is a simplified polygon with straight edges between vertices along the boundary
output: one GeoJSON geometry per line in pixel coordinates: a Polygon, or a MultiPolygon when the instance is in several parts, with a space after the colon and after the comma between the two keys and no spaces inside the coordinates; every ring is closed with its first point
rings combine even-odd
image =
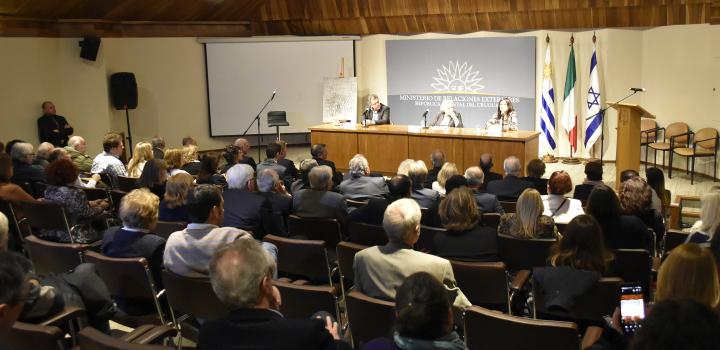
{"type": "Polygon", "coordinates": [[[717,310],[720,281],[709,249],[685,243],[672,250],[658,271],[655,301],[692,299],[717,310]]]}

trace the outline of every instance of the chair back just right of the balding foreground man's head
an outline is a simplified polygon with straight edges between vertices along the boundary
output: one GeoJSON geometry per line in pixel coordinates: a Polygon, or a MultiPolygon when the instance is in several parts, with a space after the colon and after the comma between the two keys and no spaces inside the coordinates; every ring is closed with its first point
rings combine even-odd
{"type": "Polygon", "coordinates": [[[277,280],[273,284],[282,295],[280,312],[285,317],[308,319],[318,311],[327,311],[338,319],[335,287],[299,285],[277,280]]]}

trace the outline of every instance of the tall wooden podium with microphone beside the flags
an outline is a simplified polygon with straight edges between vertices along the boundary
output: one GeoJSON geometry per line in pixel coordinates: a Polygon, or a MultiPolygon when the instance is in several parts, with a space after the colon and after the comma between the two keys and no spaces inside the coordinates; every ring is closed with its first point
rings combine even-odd
{"type": "MultiPolygon", "coordinates": [[[[613,105],[613,102],[608,102],[613,105]]],[[[640,119],[655,119],[639,105],[618,103],[612,106],[618,113],[617,146],[615,149],[615,187],[620,188],[620,173],[640,170],[640,119]]]]}

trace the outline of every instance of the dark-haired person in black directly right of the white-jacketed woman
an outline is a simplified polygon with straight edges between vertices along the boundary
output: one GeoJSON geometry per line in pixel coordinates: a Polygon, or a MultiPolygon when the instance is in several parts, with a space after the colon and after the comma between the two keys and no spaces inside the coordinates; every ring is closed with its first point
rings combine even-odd
{"type": "Polygon", "coordinates": [[[600,223],[608,249],[649,249],[652,237],[638,217],[621,215],[620,201],[612,188],[597,185],[590,192],[587,214],[600,223]]]}

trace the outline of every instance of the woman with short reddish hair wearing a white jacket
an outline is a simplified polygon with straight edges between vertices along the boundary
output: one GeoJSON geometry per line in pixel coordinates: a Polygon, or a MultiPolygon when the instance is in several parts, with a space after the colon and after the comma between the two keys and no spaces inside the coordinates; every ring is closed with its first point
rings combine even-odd
{"type": "Polygon", "coordinates": [[[572,180],[564,170],[553,172],[548,181],[548,194],[542,196],[545,211],[543,215],[553,218],[558,224],[567,224],[574,217],[584,214],[582,202],[567,198],[572,191],[572,180]]]}

